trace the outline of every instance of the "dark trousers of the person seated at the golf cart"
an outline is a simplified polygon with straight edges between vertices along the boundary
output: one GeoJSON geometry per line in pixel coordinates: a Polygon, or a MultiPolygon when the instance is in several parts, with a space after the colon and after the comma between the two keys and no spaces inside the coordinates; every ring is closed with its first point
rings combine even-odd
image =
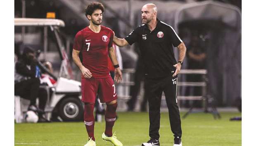
{"type": "Polygon", "coordinates": [[[14,84],[14,95],[30,100],[30,105],[36,105],[36,98],[39,97],[39,109],[44,110],[47,102],[47,91],[39,88],[40,79],[33,78],[14,84]]]}

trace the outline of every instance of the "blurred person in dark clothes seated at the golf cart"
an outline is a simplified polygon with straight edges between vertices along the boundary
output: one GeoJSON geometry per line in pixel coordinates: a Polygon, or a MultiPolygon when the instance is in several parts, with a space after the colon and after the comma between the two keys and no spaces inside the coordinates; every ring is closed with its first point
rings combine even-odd
{"type": "Polygon", "coordinates": [[[30,100],[28,111],[38,113],[38,122],[49,122],[43,117],[47,102],[47,91],[40,86],[40,69],[37,66],[36,53],[26,47],[15,63],[14,95],[30,100]],[[39,97],[39,108],[36,107],[36,98],[39,97]]]}

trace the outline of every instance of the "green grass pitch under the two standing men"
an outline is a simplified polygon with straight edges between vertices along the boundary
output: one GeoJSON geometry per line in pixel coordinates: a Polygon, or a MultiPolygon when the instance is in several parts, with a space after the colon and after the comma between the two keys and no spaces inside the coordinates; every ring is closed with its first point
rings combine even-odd
{"type": "MultiPolygon", "coordinates": [[[[220,115],[220,120],[214,120],[211,114],[205,113],[182,118],[183,146],[241,146],[241,121],[229,121],[241,113],[222,112],[220,115]]],[[[113,132],[116,131],[123,146],[141,146],[149,139],[148,113],[123,112],[118,116],[113,132]]],[[[104,122],[95,123],[96,144],[112,146],[101,139],[104,127],[104,122]]],[[[15,123],[14,128],[15,146],[83,146],[88,141],[83,122],[15,123]]],[[[168,113],[161,113],[159,133],[161,146],[173,146],[168,113]]]]}

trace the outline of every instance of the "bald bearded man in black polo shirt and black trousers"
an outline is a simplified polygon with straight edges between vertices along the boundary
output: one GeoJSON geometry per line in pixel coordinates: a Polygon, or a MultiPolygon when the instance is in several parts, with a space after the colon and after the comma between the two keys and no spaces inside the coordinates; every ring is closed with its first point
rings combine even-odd
{"type": "Polygon", "coordinates": [[[142,146],[160,146],[160,105],[163,91],[169,110],[171,131],[174,134],[173,146],[182,146],[180,112],[177,104],[177,75],[185,57],[186,47],[171,25],[157,19],[156,5],[144,5],[141,13],[143,24],[124,39],[114,36],[113,41],[118,46],[137,42],[145,65],[145,94],[149,95],[150,140],[142,146]],[[174,57],[173,46],[178,47],[178,63],[174,57]]]}

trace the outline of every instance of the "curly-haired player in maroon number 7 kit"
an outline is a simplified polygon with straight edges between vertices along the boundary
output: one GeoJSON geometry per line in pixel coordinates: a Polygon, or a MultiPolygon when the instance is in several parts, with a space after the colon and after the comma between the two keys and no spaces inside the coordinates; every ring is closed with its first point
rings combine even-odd
{"type": "Polygon", "coordinates": [[[101,25],[104,6],[99,2],[92,2],[85,8],[85,16],[90,25],[76,34],[72,57],[81,70],[82,102],[85,104],[84,123],[89,136],[85,146],[96,146],[94,137],[93,109],[96,93],[101,102],[107,103],[105,112],[106,128],[102,139],[110,141],[114,146],[123,144],[112,134],[112,128],[116,120],[117,95],[114,81],[108,69],[108,55],[115,67],[115,81],[122,80],[114,49],[112,47],[114,32],[101,25]],[[83,63],[79,58],[82,52],[83,63]]]}

